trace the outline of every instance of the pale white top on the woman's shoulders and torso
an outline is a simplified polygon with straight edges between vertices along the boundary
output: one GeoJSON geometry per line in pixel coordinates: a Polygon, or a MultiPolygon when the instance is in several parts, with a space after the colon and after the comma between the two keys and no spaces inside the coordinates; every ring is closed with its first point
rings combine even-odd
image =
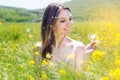
{"type": "MultiPolygon", "coordinates": [[[[42,43],[37,42],[36,46],[41,47],[42,43]]],[[[78,49],[78,47],[83,47],[83,46],[84,44],[82,42],[72,40],[70,44],[66,44],[63,47],[60,47],[59,50],[53,49],[52,62],[56,64],[61,64],[61,63],[70,64],[72,67],[74,67],[76,56],[82,57],[79,54],[75,54],[76,49],[78,49]],[[66,49],[64,49],[64,47],[66,49]]]]}

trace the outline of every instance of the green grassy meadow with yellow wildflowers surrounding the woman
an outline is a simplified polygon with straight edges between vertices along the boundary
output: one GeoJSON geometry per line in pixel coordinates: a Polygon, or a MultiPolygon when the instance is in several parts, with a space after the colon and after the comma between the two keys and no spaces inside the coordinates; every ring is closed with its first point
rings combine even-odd
{"type": "Polygon", "coordinates": [[[88,61],[81,62],[86,67],[77,71],[65,64],[35,62],[40,23],[0,23],[0,80],[119,80],[119,22],[74,22],[69,36],[87,45],[92,34],[100,43],[88,61]]]}

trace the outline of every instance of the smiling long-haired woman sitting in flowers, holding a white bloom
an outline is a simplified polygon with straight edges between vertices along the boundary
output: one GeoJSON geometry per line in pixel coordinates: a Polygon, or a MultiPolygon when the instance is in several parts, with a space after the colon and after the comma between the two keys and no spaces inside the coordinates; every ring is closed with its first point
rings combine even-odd
{"type": "Polygon", "coordinates": [[[52,3],[46,8],[41,24],[42,43],[37,43],[41,47],[42,59],[50,53],[51,61],[55,63],[68,63],[79,68],[85,52],[92,52],[95,41],[85,48],[82,42],[75,41],[68,37],[72,28],[71,10],[57,3],[52,3]]]}

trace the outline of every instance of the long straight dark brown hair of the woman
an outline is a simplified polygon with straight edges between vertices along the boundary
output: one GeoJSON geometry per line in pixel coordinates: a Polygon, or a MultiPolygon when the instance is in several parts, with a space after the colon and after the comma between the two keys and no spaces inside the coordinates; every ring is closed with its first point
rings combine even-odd
{"type": "Polygon", "coordinates": [[[42,24],[41,24],[41,37],[42,37],[42,59],[46,58],[46,53],[52,54],[52,46],[55,46],[54,24],[57,20],[58,14],[61,10],[71,10],[58,3],[51,3],[45,9],[42,24]]]}

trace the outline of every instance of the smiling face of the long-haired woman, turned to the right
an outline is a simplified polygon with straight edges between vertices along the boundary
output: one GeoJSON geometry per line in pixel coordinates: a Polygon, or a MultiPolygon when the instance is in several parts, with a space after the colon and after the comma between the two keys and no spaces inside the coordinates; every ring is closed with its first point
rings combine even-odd
{"type": "Polygon", "coordinates": [[[72,15],[67,9],[61,10],[57,21],[54,25],[54,32],[56,35],[67,35],[70,33],[72,28],[72,15]]]}

